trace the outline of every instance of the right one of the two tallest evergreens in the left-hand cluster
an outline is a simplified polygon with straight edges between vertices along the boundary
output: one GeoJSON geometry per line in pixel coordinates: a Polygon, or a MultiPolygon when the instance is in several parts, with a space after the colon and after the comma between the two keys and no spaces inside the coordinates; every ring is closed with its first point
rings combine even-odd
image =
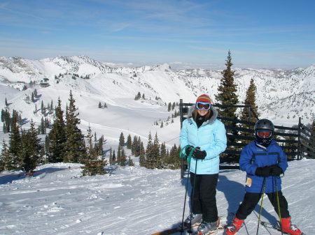
{"type": "Polygon", "coordinates": [[[64,162],[80,163],[86,156],[84,135],[78,128],[80,119],[72,91],[69,94],[69,107],[66,109],[66,142],[64,143],[64,162]]]}

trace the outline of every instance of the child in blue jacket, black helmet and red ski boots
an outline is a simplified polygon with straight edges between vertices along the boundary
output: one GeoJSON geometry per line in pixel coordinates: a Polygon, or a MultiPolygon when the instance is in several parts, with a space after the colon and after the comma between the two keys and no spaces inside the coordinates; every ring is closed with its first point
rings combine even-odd
{"type": "Polygon", "coordinates": [[[258,204],[263,188],[274,210],[281,219],[281,229],[291,235],[302,235],[300,229],[290,222],[288,202],[281,192],[280,174],[288,167],[286,154],[276,144],[272,135],[274,124],[268,119],[260,119],[255,123],[255,141],[246,145],[241,151],[239,167],[246,171],[246,188],[243,202],[235,214],[232,225],[228,226],[225,234],[234,235],[239,231],[246,217],[251,214],[258,204]],[[279,197],[279,206],[278,206],[279,197]]]}

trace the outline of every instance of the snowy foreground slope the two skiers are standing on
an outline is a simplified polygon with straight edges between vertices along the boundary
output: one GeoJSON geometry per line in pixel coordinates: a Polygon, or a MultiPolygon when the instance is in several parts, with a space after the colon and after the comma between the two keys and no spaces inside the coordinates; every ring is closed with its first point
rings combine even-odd
{"type": "MultiPolygon", "coordinates": [[[[293,223],[305,234],[315,231],[314,167],[315,160],[289,162],[283,177],[293,223]]],[[[80,171],[80,165],[58,163],[38,167],[31,177],[0,176],[0,234],[146,235],[181,222],[187,175],[181,180],[179,170],[117,167],[104,176],[85,177],[80,171]]],[[[244,179],[239,170],[220,172],[216,198],[222,223],[237,210],[244,179]]],[[[259,205],[239,235],[255,234],[259,205]]],[[[276,219],[264,197],[261,220],[276,219]]],[[[259,234],[281,233],[260,227],[259,234]]]]}

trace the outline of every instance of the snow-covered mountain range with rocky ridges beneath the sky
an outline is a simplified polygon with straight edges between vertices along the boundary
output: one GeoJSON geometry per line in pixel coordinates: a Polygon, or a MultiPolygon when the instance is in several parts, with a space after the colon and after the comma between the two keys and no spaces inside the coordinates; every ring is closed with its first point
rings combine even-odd
{"type": "MultiPolygon", "coordinates": [[[[0,107],[4,107],[7,98],[10,109],[20,111],[23,118],[39,122],[41,101],[44,105],[51,101],[56,105],[60,97],[65,107],[71,90],[83,129],[90,123],[92,129],[101,134],[115,132],[116,135],[116,132],[125,130],[126,134],[130,132],[144,138],[149,131],[158,130],[158,134],[167,139],[170,132],[178,134],[179,120],[165,128],[153,126],[155,121],[172,116],[167,112],[167,103],[179,102],[180,98],[183,102],[193,103],[202,93],[209,94],[216,103],[214,95],[218,93],[222,76],[221,70],[176,71],[168,64],[138,68],[108,65],[87,56],[41,60],[0,57],[0,107]],[[48,87],[41,87],[43,78],[49,79],[48,87]],[[30,82],[35,85],[29,86],[30,82]],[[28,89],[22,91],[25,85],[28,89]],[[27,97],[34,89],[38,97],[32,103],[27,97]],[[138,92],[144,98],[134,100],[138,92]],[[99,109],[99,103],[106,103],[109,108],[99,109]],[[135,119],[140,120],[141,126],[130,126],[135,119]]],[[[255,80],[261,118],[268,117],[276,125],[283,126],[296,125],[299,116],[303,123],[311,123],[314,119],[315,64],[295,70],[234,70],[240,104],[250,79],[255,80]]]]}

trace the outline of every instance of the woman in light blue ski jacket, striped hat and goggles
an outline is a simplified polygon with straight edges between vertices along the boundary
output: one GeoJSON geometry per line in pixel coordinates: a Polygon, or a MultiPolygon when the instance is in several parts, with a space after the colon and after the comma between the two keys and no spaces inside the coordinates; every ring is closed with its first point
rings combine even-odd
{"type": "Polygon", "coordinates": [[[218,183],[219,154],[226,148],[226,131],[217,119],[218,112],[207,95],[199,96],[183,121],[180,134],[181,148],[186,148],[190,161],[191,213],[186,224],[199,224],[198,232],[207,234],[218,227],[216,184],[218,183]],[[197,169],[196,169],[197,168],[197,169]]]}

